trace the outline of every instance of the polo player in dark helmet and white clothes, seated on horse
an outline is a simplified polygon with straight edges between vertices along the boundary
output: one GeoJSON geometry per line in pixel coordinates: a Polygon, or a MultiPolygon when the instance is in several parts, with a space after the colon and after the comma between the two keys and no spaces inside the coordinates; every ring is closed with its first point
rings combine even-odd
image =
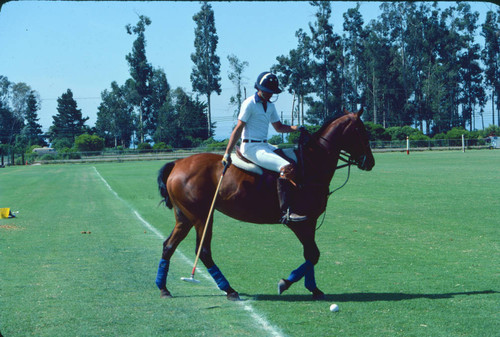
{"type": "Polygon", "coordinates": [[[300,222],[307,216],[293,212],[292,185],[295,185],[295,165],[276,153],[277,149],[267,142],[269,123],[277,132],[301,131],[303,126],[281,123],[276,107],[271,102],[273,94],[281,93],[278,78],[270,72],[263,72],[255,82],[257,92],[245,99],[241,105],[238,122],[231,133],[226,152],[222,159],[224,167],[231,165],[231,152],[241,137],[241,153],[255,164],[270,171],[279,172],[278,197],[282,213],[282,223],[300,222]]]}

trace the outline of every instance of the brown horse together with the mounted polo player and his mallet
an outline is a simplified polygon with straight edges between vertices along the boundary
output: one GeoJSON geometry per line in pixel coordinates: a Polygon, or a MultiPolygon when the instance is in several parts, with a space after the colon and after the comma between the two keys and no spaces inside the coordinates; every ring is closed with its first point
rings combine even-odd
{"type": "MultiPolygon", "coordinates": [[[[158,173],[160,194],[175,215],[175,226],[163,242],[155,281],[162,297],[172,297],[167,289],[170,260],[194,228],[197,256],[219,289],[226,292],[227,298],[239,299],[238,292],[231,287],[212,256],[212,210],[215,207],[226,216],[247,223],[274,224],[285,215],[284,222],[302,244],[304,263],[278,282],[278,293],[282,294],[292,284],[304,279],[304,286],[312,293],[313,299],[324,298],[314,275],[320,257],[315,240],[316,223],[326,210],[330,182],[337,168],[354,164],[370,171],[375,165],[368,133],[361,120],[363,110],[357,113],[345,111],[342,116],[325,122],[307,137],[307,141],[304,138],[299,151],[295,152],[300,159],[301,174],[297,174],[299,177],[293,181],[294,165],[276,154],[275,148],[267,143],[267,130],[269,123],[278,132],[301,129],[282,124],[274,104],[269,101],[273,94],[281,92],[275,75],[269,72],[260,74],[255,88],[257,93],[247,98],[241,107],[238,123],[222,158],[215,153],[198,153],[166,163],[158,173]],[[267,171],[256,174],[230,165],[230,154],[240,137],[243,154],[267,171]],[[341,152],[347,158],[341,158],[341,152]],[[339,166],[340,159],[347,164],[339,166]],[[224,166],[220,164],[221,160],[224,166]],[[275,172],[280,172],[279,178],[275,172]],[[277,188],[274,185],[276,179],[277,188]],[[301,197],[300,203],[294,203],[290,192],[296,190],[292,188],[292,182],[296,184],[298,180],[300,194],[306,197],[301,197]],[[307,214],[307,217],[299,214],[307,214]]],[[[194,279],[194,270],[195,267],[191,279],[194,279]]]]}

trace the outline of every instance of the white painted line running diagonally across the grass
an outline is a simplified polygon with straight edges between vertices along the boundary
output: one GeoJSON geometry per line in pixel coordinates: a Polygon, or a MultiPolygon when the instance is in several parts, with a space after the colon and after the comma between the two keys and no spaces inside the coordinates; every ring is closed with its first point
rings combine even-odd
{"type": "MultiPolygon", "coordinates": [[[[144,227],[146,227],[147,230],[153,232],[158,238],[160,238],[162,241],[165,240],[165,236],[158,230],[156,229],[153,225],[151,225],[149,222],[147,222],[140,214],[139,212],[137,212],[132,206],[130,206],[125,200],[123,200],[119,195],[118,193],[116,193],[112,188],[111,186],[108,184],[108,182],[106,181],[106,179],[104,179],[101,174],[99,173],[99,171],[97,171],[97,169],[95,168],[95,166],[93,166],[94,168],[94,171],[95,173],[97,174],[97,176],[102,180],[102,182],[104,183],[104,185],[106,185],[106,187],[109,189],[109,191],[111,193],[114,194],[114,196],[120,200],[123,204],[125,204],[134,214],[135,216],[137,217],[137,219],[139,219],[139,221],[143,224],[144,227]]],[[[188,264],[188,265],[193,265],[194,264],[194,261],[191,261],[190,258],[188,258],[186,255],[184,255],[180,250],[179,248],[177,248],[175,250],[175,252],[180,255],[180,257],[188,264]]],[[[212,277],[210,275],[208,275],[204,270],[200,270],[198,267],[196,268],[196,272],[203,276],[205,279],[213,282],[213,284],[215,286],[217,286],[215,284],[215,281],[212,279],[212,277]]],[[[219,288],[217,288],[217,290],[219,290],[219,288]]],[[[257,313],[257,311],[249,304],[249,303],[245,303],[246,301],[238,301],[237,303],[240,304],[243,308],[243,310],[247,311],[249,314],[250,314],[250,317],[252,317],[252,319],[262,327],[263,330],[267,331],[271,336],[274,336],[274,337],[284,337],[285,335],[283,335],[283,333],[280,331],[280,329],[278,329],[277,327],[274,327],[273,325],[271,325],[271,323],[269,323],[262,315],[260,315],[259,313],[257,313]]]]}

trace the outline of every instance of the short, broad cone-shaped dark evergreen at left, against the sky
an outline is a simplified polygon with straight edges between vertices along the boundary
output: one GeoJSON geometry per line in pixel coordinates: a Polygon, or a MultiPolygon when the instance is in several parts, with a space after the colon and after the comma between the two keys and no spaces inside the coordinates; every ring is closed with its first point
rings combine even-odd
{"type": "Polygon", "coordinates": [[[75,138],[86,131],[85,122],[89,118],[83,118],[73,99],[73,92],[68,89],[57,99],[57,114],[52,119],[54,121],[49,130],[51,142],[64,141],[67,145],[73,144],[75,138]]]}

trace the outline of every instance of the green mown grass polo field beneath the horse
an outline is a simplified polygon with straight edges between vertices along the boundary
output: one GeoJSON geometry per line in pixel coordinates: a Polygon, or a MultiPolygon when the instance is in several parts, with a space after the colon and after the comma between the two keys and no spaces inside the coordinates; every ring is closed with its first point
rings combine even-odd
{"type": "Polygon", "coordinates": [[[244,300],[227,301],[204,271],[199,285],[180,281],[194,232],[172,260],[175,297],[161,299],[162,239],[148,224],[163,236],[173,228],[172,211],[157,207],[162,162],[0,169],[0,207],[19,211],[0,220],[1,334],[498,336],[500,151],[375,159],[330,198],[317,233],[325,301],[302,282],[276,293],[303,262],[290,230],[220,213],[214,259],[244,300]]]}

